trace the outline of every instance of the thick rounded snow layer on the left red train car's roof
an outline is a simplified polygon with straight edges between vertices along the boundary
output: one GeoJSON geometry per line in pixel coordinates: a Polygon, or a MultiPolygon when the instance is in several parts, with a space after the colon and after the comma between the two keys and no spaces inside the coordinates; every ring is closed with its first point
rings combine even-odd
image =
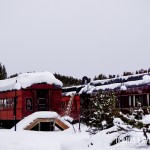
{"type": "Polygon", "coordinates": [[[1,80],[0,91],[19,90],[38,83],[54,84],[61,87],[63,85],[60,80],[56,79],[55,76],[48,71],[22,73],[17,77],[1,80]]]}

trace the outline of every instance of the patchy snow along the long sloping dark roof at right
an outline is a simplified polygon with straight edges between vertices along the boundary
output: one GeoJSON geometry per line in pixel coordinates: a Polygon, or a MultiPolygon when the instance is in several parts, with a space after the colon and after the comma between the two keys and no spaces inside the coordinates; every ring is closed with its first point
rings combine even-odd
{"type": "MultiPolygon", "coordinates": [[[[82,87],[81,90],[79,91],[79,94],[82,93],[92,94],[93,92],[100,91],[100,90],[115,90],[115,89],[127,90],[132,86],[139,86],[144,84],[150,85],[149,74],[143,73],[143,74],[130,75],[130,76],[121,76],[112,79],[95,80],[95,81],[91,81],[90,83],[84,86],[79,85],[79,86],[72,86],[72,87],[63,87],[63,89],[82,87]],[[140,78],[139,80],[128,81],[132,77],[140,77],[140,78]],[[117,79],[120,80],[120,83],[114,83],[114,81],[117,79]]],[[[74,92],[75,91],[72,90],[69,92],[65,92],[64,94],[70,96],[74,92]]]]}

